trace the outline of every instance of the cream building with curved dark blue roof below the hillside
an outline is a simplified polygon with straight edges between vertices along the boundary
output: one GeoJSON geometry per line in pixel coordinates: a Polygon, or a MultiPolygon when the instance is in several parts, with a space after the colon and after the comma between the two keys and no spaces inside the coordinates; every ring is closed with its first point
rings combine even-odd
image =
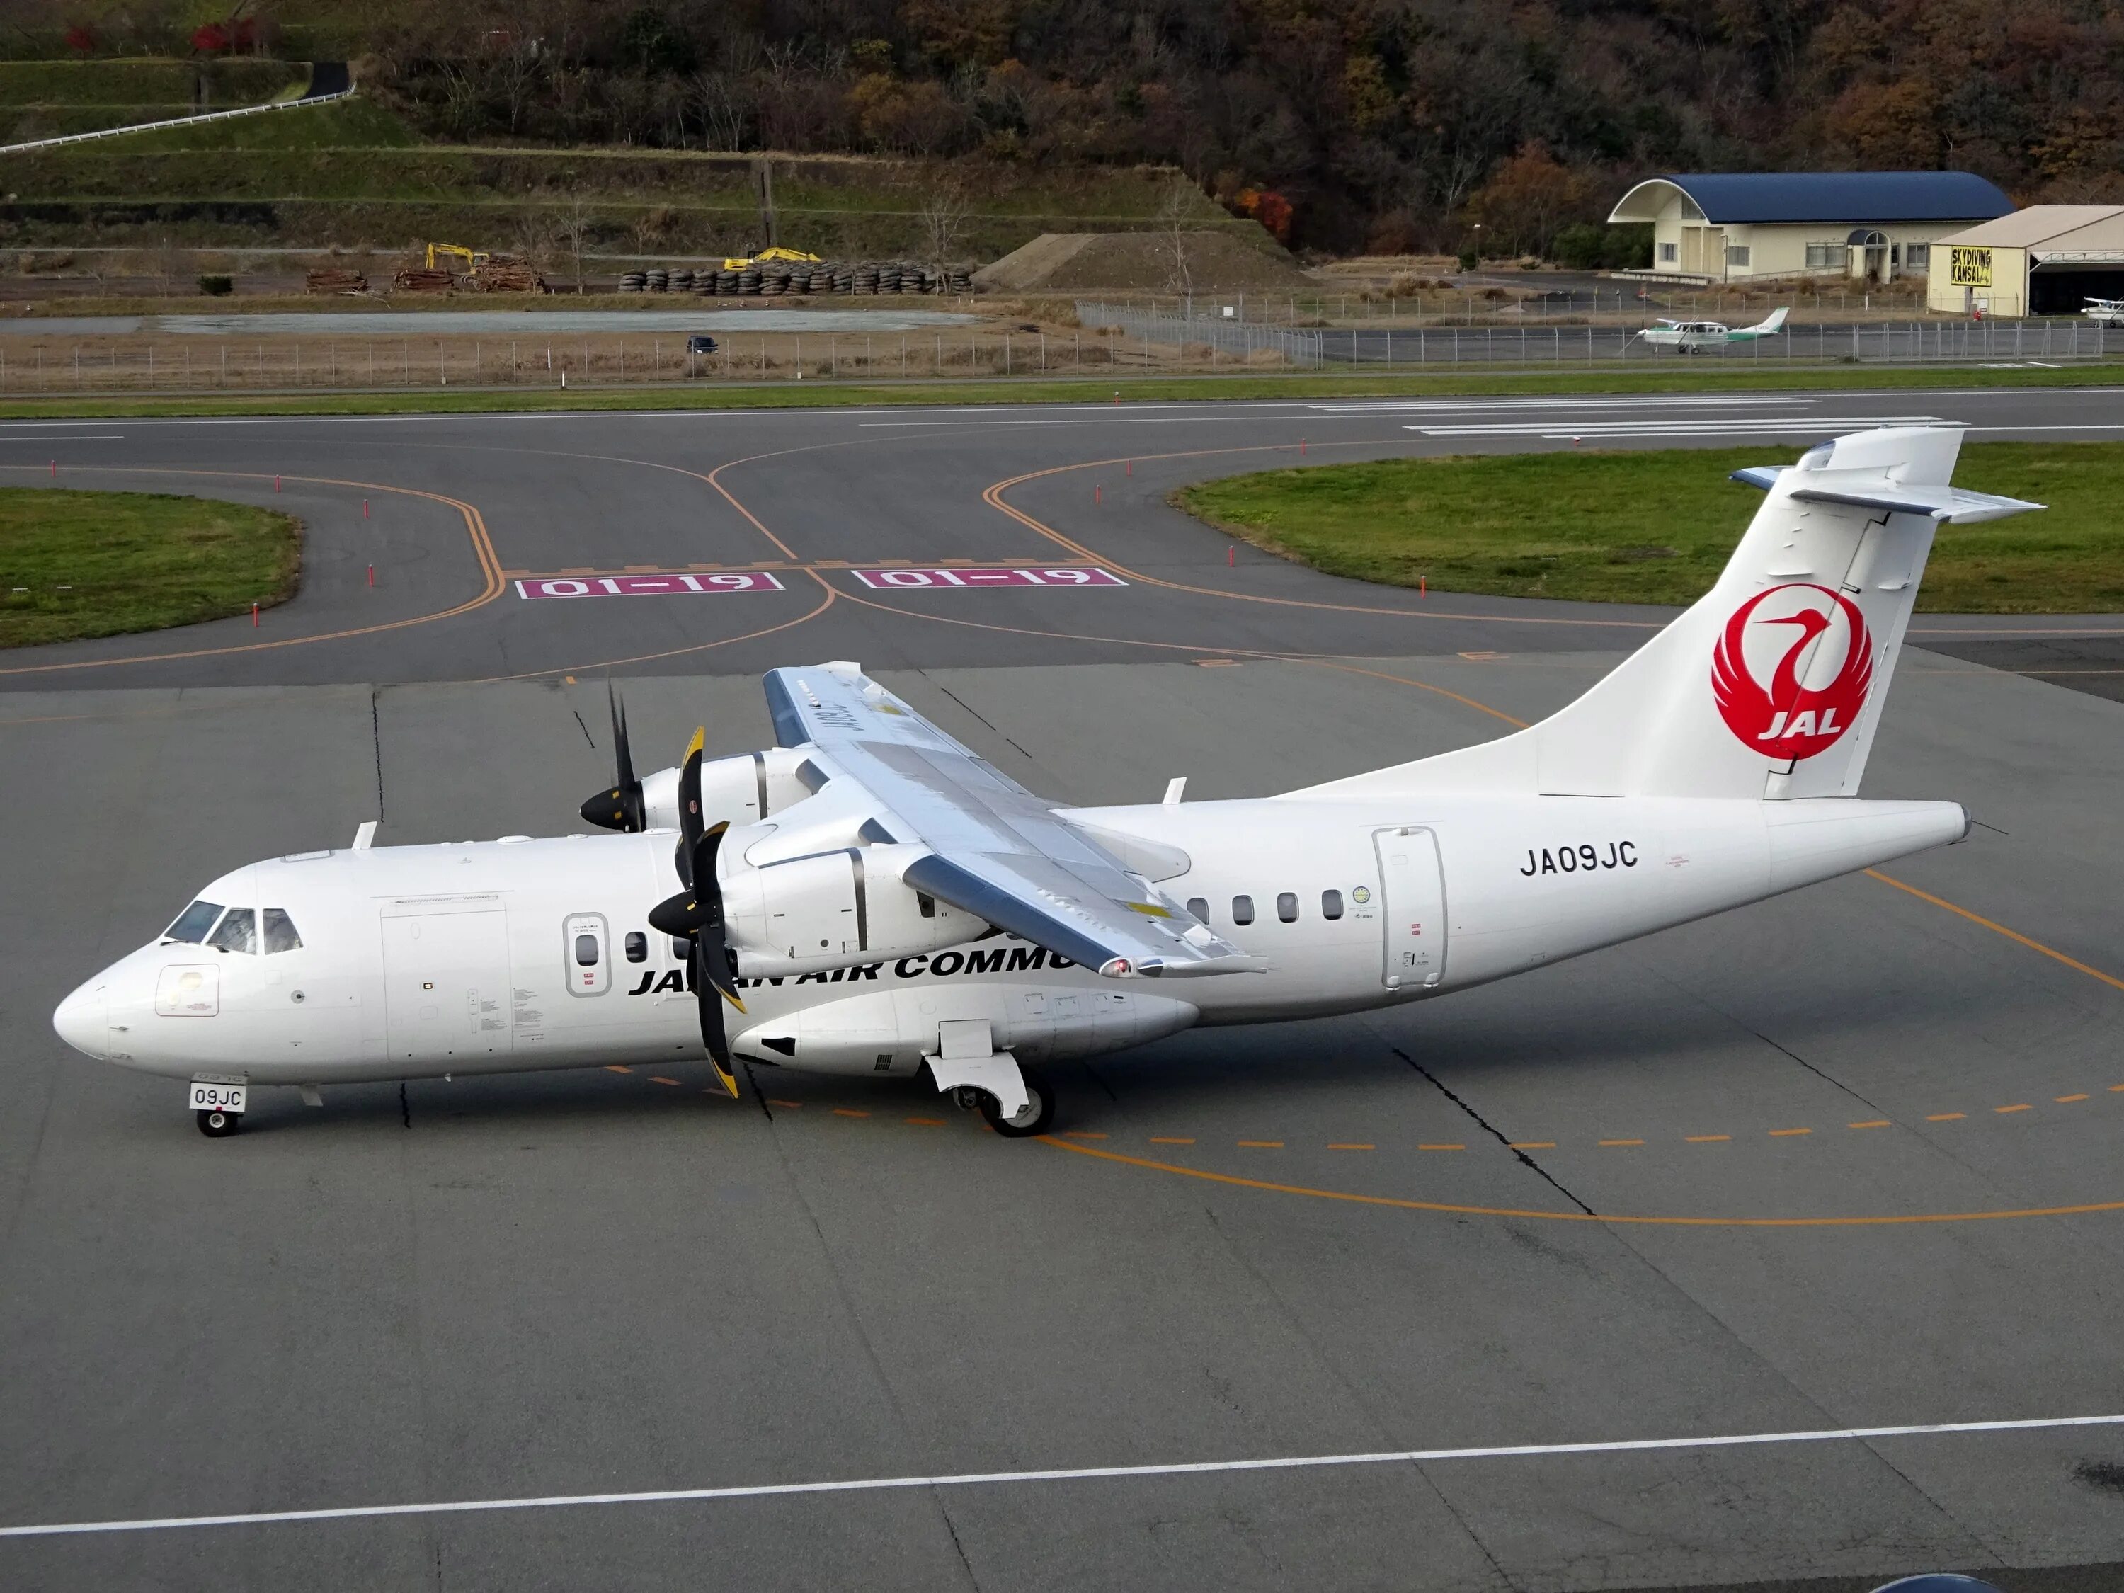
{"type": "Polygon", "coordinates": [[[1699,282],[1924,276],[1931,246],[2014,202],[1975,172],[1678,172],[1608,221],[1652,225],[1652,272],[1699,282]]]}

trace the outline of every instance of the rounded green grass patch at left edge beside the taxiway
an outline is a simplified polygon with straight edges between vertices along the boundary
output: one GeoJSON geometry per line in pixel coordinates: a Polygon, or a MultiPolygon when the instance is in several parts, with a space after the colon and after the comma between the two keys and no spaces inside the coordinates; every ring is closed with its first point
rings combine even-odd
{"type": "Polygon", "coordinates": [[[295,593],[302,523],[159,493],[0,486],[0,648],[161,631],[295,593]]]}

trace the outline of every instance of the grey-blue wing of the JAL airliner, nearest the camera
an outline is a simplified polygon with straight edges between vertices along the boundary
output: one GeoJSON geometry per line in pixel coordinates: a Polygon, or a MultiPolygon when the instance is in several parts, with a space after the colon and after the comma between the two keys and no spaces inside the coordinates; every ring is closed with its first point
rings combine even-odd
{"type": "Polygon", "coordinates": [[[869,792],[875,826],[928,847],[901,875],[915,890],[1109,977],[1264,966],[860,665],[773,669],[767,707],[780,746],[816,748],[869,792]]]}

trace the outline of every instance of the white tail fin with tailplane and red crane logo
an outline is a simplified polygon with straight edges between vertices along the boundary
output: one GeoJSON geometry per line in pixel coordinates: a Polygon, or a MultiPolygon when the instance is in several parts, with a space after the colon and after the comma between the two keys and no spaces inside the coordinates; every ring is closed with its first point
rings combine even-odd
{"type": "Polygon", "coordinates": [[[1850,796],[1941,520],[2041,508],[1950,486],[1963,433],[1882,427],[1812,448],[1765,489],[1725,573],[1674,624],[1540,724],[1308,796],[1850,796]]]}

